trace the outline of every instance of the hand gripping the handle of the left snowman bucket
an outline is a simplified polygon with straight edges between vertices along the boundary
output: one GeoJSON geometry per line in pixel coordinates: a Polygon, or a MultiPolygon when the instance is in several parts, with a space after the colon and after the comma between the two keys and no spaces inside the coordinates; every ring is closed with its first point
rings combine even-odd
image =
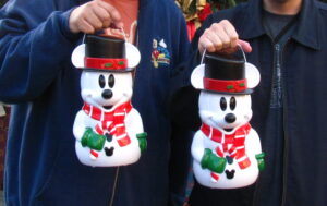
{"type": "Polygon", "coordinates": [[[118,10],[104,0],[93,0],[77,7],[69,20],[72,33],[94,34],[111,24],[118,28],[123,26],[118,10]]]}

